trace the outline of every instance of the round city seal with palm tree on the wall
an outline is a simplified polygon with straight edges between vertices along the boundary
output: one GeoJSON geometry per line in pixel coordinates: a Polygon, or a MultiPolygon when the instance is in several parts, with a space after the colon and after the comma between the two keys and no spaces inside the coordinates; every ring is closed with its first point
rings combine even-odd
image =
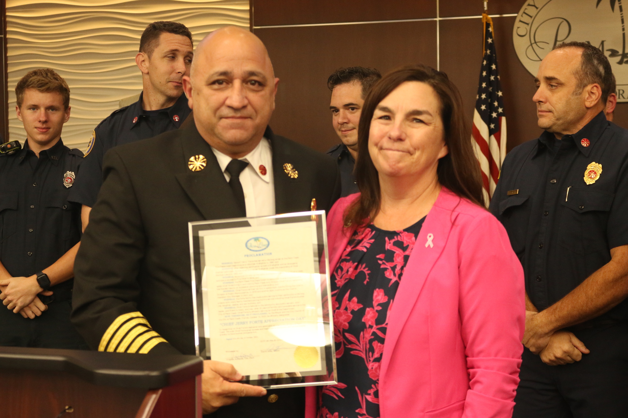
{"type": "Polygon", "coordinates": [[[512,28],[519,60],[536,76],[541,60],[554,46],[571,41],[590,43],[609,58],[617,79],[617,101],[628,102],[622,2],[628,0],[527,0],[512,28]]]}

